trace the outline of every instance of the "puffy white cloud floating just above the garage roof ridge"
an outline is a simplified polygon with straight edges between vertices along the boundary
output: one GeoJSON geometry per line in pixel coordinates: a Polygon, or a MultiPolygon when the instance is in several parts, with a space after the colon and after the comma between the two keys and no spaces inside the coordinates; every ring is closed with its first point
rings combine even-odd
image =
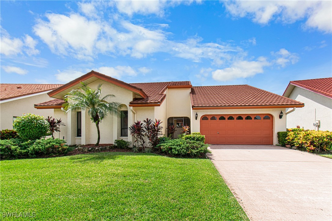
{"type": "Polygon", "coordinates": [[[229,68],[217,69],[212,72],[212,78],[216,81],[231,81],[237,78],[253,77],[264,72],[264,67],[271,65],[265,57],[259,57],[256,61],[236,61],[229,68]]]}

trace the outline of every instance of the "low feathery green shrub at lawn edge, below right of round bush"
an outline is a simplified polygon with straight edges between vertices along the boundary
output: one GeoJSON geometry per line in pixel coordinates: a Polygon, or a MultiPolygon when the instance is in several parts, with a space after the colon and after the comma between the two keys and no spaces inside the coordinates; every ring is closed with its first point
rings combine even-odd
{"type": "Polygon", "coordinates": [[[41,155],[58,155],[68,152],[68,146],[63,139],[38,139],[28,149],[29,157],[41,155]]]}

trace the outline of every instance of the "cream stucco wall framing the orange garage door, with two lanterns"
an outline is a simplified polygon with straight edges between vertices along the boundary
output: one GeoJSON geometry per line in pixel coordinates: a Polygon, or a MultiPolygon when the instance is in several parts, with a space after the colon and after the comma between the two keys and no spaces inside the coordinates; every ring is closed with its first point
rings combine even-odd
{"type": "Polygon", "coordinates": [[[280,111],[286,112],[285,108],[259,108],[259,109],[220,109],[220,110],[193,110],[192,132],[200,132],[200,119],[206,114],[271,114],[273,116],[273,143],[278,144],[277,132],[286,131],[286,114],[279,119],[280,111]],[[195,120],[195,114],[198,114],[195,120]]]}

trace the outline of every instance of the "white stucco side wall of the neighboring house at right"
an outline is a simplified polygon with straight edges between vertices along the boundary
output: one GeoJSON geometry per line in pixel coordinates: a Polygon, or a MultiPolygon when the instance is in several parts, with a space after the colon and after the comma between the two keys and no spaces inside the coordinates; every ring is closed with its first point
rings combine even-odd
{"type": "Polygon", "coordinates": [[[320,120],[319,130],[332,131],[331,98],[297,86],[294,87],[289,98],[304,103],[304,107],[296,108],[287,115],[287,128],[296,128],[298,125],[306,130],[317,130],[313,123],[315,120],[320,120]]]}

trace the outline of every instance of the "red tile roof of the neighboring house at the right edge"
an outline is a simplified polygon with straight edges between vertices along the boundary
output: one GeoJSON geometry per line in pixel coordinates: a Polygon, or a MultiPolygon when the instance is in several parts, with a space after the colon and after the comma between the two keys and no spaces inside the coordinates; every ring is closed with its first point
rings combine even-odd
{"type": "Polygon", "coordinates": [[[332,78],[319,78],[319,79],[309,79],[309,80],[301,80],[301,81],[291,81],[288,84],[288,86],[284,92],[284,95],[285,95],[287,89],[289,88],[290,84],[299,86],[299,87],[303,87],[305,89],[314,91],[319,94],[323,94],[328,97],[332,97],[332,78]]]}

